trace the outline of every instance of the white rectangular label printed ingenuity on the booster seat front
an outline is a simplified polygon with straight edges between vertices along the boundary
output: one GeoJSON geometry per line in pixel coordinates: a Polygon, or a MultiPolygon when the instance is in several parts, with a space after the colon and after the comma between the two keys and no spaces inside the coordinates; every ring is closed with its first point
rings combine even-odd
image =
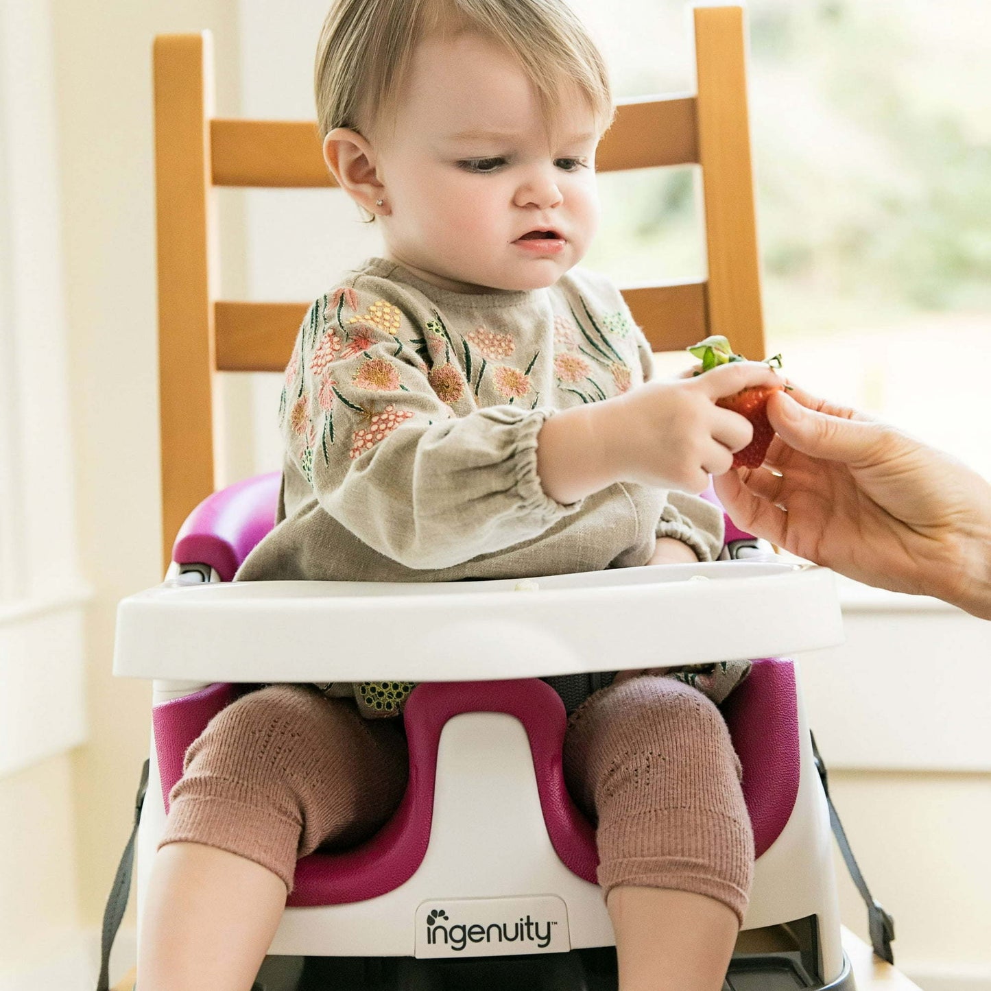
{"type": "Polygon", "coordinates": [[[568,909],[554,895],[453,898],[416,910],[416,956],[566,953],[568,909]]]}

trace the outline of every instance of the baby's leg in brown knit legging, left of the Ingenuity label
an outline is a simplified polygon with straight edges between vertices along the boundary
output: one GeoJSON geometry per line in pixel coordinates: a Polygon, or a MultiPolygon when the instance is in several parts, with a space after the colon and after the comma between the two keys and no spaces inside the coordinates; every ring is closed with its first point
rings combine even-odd
{"type": "Polygon", "coordinates": [[[297,857],[374,833],[405,789],[397,720],[271,686],[211,719],[172,789],[142,917],[141,991],[248,991],[297,857]]]}

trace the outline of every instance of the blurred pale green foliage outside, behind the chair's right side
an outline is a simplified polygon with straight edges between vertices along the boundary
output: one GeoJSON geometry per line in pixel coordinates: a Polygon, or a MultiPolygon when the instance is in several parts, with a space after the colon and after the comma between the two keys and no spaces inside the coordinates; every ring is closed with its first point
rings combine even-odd
{"type": "MultiPolygon", "coordinates": [[[[637,16],[666,17],[663,44],[687,48],[682,14],[654,0],[637,16]]],[[[748,22],[768,330],[991,311],[991,4],[751,0],[748,22]]],[[[610,60],[620,95],[679,81],[649,58],[610,60]]],[[[627,281],[704,275],[695,171],[603,175],[588,264],[627,281]]]]}

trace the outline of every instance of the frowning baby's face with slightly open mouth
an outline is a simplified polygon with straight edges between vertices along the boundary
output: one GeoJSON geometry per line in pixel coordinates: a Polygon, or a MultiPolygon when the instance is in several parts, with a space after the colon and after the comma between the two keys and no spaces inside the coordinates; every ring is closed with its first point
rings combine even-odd
{"type": "Polygon", "coordinates": [[[465,292],[541,288],[577,265],[598,225],[599,134],[564,95],[550,139],[508,55],[476,35],[426,40],[378,147],[386,255],[465,292]]]}

